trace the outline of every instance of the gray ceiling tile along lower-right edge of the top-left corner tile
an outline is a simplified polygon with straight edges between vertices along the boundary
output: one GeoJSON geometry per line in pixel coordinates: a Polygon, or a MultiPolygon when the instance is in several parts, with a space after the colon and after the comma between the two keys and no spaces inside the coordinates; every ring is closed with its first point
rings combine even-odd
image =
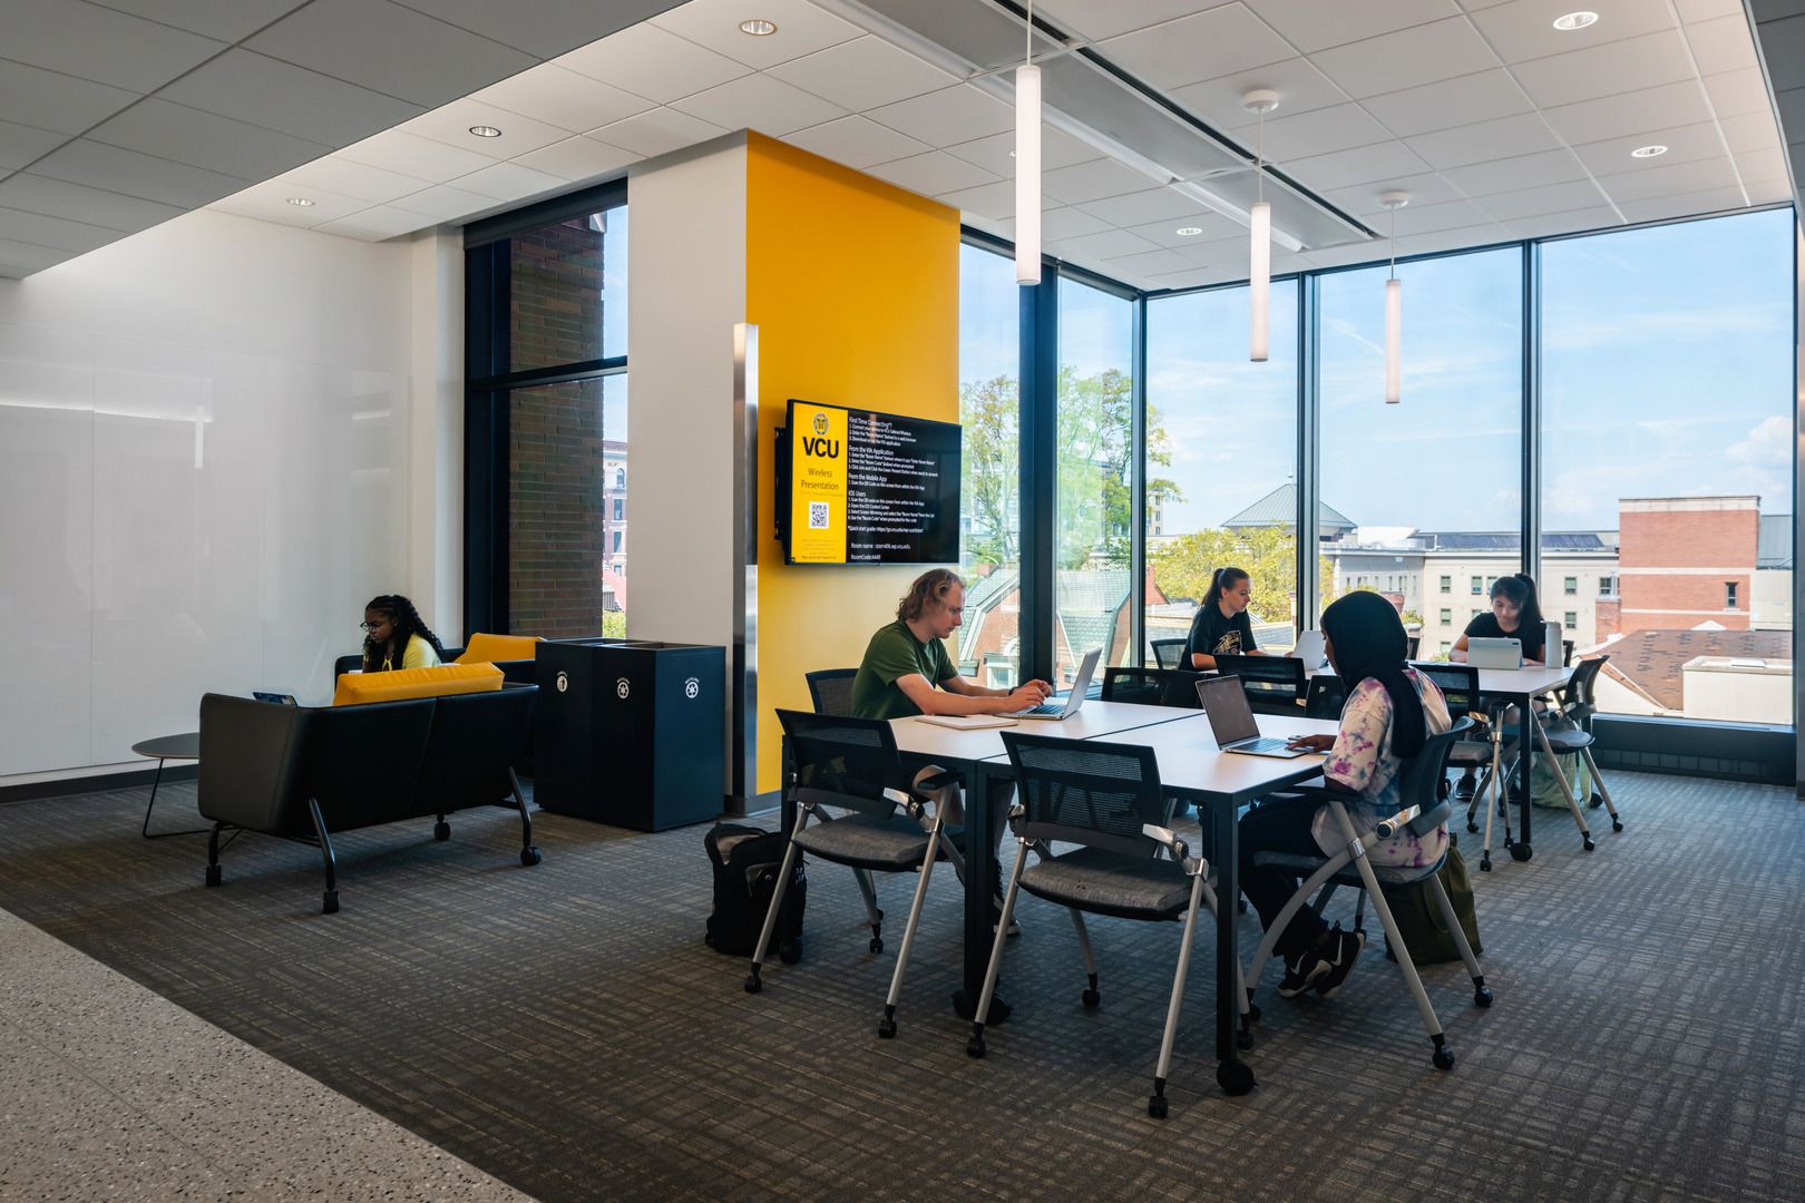
{"type": "Polygon", "coordinates": [[[332,146],[421,114],[419,105],[240,49],[202,63],[157,96],[332,146]]]}

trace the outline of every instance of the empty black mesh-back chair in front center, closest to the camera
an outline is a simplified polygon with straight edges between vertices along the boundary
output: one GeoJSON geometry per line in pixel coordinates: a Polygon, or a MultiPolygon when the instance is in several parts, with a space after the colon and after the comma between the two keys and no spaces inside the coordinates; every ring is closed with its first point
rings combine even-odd
{"type": "MultiPolygon", "coordinates": [[[[971,1057],[986,1053],[984,1015],[989,1014],[991,996],[996,990],[1004,931],[1014,914],[1018,891],[1025,889],[1070,913],[1078,947],[1085,954],[1088,987],[1079,1001],[1087,1008],[1103,1001],[1097,992],[1097,961],[1085,931],[1087,911],[1130,920],[1182,920],[1179,965],[1166,1003],[1166,1033],[1153,1071],[1153,1095],[1146,1104],[1148,1115],[1164,1118],[1166,1071],[1171,1068],[1171,1042],[1184,1003],[1184,976],[1191,963],[1197,911],[1199,905],[1208,905],[1211,914],[1217,911],[1217,895],[1208,880],[1209,864],[1202,857],[1193,857],[1186,842],[1168,826],[1170,803],[1159,786],[1153,748],[1023,736],[1014,730],[1004,732],[1004,747],[1009,748],[1016,795],[1022,799],[1009,812],[1016,859],[1009,873],[1009,889],[1004,893],[1004,918],[991,945],[991,963],[984,974],[984,994],[978,999],[978,1017],[971,1024],[966,1053],[971,1057]],[[1054,855],[1054,840],[1076,848],[1054,855]],[[1029,848],[1036,857],[1032,866],[1027,864],[1029,848]]],[[[1236,981],[1236,999],[1245,999],[1245,990],[1240,987],[1236,981]]],[[[1242,1010],[1245,1012],[1245,1003],[1242,1010]]]]}

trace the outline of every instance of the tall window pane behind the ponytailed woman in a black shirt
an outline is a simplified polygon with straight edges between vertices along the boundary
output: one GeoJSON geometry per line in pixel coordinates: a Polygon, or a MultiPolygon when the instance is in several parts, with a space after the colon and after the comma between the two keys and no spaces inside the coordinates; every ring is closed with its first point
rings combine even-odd
{"type": "Polygon", "coordinates": [[[1146,307],[1146,664],[1184,638],[1217,568],[1244,568],[1262,647],[1298,615],[1298,281],[1271,296],[1271,354],[1247,359],[1247,289],[1146,307]],[[1157,458],[1155,458],[1157,453],[1157,458]]]}

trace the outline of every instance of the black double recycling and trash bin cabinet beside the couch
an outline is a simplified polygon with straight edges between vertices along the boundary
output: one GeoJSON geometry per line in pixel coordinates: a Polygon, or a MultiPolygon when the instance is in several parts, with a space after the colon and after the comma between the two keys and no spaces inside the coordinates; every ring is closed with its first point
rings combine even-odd
{"type": "Polygon", "coordinates": [[[726,657],[724,647],[626,638],[540,644],[534,801],[635,831],[717,817],[726,657]]]}

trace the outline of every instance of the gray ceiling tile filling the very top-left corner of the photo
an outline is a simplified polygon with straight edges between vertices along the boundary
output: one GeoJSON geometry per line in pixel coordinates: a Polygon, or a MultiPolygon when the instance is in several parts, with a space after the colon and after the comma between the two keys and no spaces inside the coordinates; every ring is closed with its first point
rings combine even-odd
{"type": "Polygon", "coordinates": [[[0,23],[4,58],[128,92],[161,88],[226,49],[85,0],[5,0],[0,23]]]}

